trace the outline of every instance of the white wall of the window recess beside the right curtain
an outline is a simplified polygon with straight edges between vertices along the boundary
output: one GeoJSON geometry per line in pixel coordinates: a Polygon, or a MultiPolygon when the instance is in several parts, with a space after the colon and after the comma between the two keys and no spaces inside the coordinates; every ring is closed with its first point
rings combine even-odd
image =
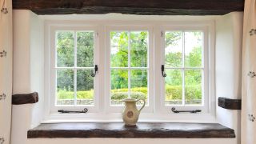
{"type": "MultiPolygon", "coordinates": [[[[232,13],[216,21],[216,97],[241,99],[242,13],[232,13]]],[[[218,122],[235,130],[240,143],[241,110],[217,106],[218,122]]]]}

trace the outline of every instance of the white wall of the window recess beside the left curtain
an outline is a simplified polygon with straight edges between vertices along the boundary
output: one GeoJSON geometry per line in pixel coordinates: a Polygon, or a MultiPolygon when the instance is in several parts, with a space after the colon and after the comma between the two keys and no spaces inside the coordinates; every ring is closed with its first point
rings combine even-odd
{"type": "Polygon", "coordinates": [[[12,106],[11,143],[26,144],[26,132],[42,120],[43,22],[29,10],[14,10],[13,94],[37,91],[36,104],[12,106]]]}

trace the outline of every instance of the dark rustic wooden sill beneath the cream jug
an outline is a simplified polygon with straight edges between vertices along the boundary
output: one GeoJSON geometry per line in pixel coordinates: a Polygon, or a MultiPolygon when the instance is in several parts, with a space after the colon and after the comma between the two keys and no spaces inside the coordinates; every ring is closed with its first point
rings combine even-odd
{"type": "Polygon", "coordinates": [[[27,138],[235,138],[218,123],[52,123],[27,132],[27,138]]]}

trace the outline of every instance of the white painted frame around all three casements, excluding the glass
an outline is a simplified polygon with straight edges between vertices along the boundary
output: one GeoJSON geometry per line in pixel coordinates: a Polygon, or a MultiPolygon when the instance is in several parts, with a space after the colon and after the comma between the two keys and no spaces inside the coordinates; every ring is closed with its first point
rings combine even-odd
{"type": "MultiPolygon", "coordinates": [[[[198,20],[193,21],[117,21],[117,20],[101,20],[101,21],[62,21],[62,20],[50,20],[45,22],[45,110],[43,122],[122,122],[121,112],[122,107],[110,106],[110,31],[114,30],[146,30],[149,32],[149,74],[148,86],[149,86],[149,106],[142,110],[139,122],[216,122],[215,109],[216,109],[216,97],[215,97],[215,82],[214,82],[214,41],[215,30],[214,21],[198,20]],[[94,101],[95,107],[89,108],[88,114],[57,114],[56,110],[51,110],[51,72],[50,66],[53,55],[51,55],[51,38],[52,30],[54,27],[69,28],[70,30],[95,30],[98,32],[97,42],[98,50],[98,69],[99,72],[94,80],[94,87],[97,85],[98,100],[94,101]],[[164,104],[164,97],[162,93],[162,74],[161,65],[162,62],[162,37],[161,31],[174,30],[176,27],[178,30],[183,28],[204,28],[207,31],[207,57],[208,67],[208,85],[209,94],[208,98],[208,110],[200,114],[174,114],[171,112],[170,107],[166,107],[164,104]],[[96,82],[97,81],[97,82],[96,82]],[[98,83],[98,84],[95,84],[98,83]],[[50,85],[49,85],[50,83],[50,85]]],[[[198,30],[198,29],[197,29],[198,30]]],[[[96,38],[94,39],[96,40],[96,38]]],[[[95,55],[95,53],[94,53],[95,55]]],[[[96,62],[94,64],[97,64],[96,62]]],[[[97,93],[97,92],[96,92],[97,93]]],[[[139,107],[139,106],[138,106],[139,107]]],[[[68,110],[82,110],[84,106],[78,109],[68,110]]],[[[178,107],[177,107],[178,108],[178,107]]],[[[179,109],[180,110],[180,109],[179,109]]]]}

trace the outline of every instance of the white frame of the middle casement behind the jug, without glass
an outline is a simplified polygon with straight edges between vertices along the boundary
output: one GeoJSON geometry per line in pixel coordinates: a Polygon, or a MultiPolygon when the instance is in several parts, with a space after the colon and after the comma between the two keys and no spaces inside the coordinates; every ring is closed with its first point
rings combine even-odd
{"type": "MultiPolygon", "coordinates": [[[[154,56],[153,56],[153,42],[154,42],[154,32],[152,26],[106,26],[106,109],[108,110],[108,113],[121,113],[123,110],[123,106],[111,106],[110,105],[110,89],[111,89],[111,81],[110,81],[110,32],[111,31],[147,31],[148,32],[148,59],[147,59],[147,68],[139,68],[138,70],[145,69],[147,70],[147,86],[148,86],[148,105],[145,106],[145,108],[142,110],[142,113],[152,113],[154,108],[154,56]]],[[[130,39],[128,40],[130,41],[130,39]]],[[[130,48],[128,48],[130,51],[130,48]]],[[[129,52],[130,53],[130,52],[129,52]]],[[[130,58],[128,58],[130,60],[130,58]]],[[[124,69],[124,68],[121,68],[124,69]]],[[[127,68],[127,70],[133,70],[135,68],[127,68]]]]}

